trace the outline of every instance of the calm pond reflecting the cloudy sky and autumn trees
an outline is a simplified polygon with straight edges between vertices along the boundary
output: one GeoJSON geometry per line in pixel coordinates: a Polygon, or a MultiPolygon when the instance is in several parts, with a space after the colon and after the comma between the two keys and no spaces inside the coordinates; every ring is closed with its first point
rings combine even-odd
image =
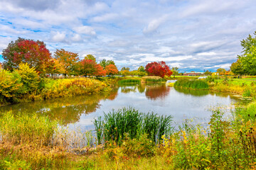
{"type": "Polygon", "coordinates": [[[159,115],[172,115],[174,124],[181,125],[183,120],[193,118],[195,123],[208,123],[210,108],[226,106],[240,101],[231,94],[210,91],[174,89],[166,84],[141,84],[117,86],[110,95],[75,96],[55,98],[33,103],[18,103],[1,106],[0,112],[38,113],[50,118],[63,120],[69,128],[93,130],[94,118],[123,107],[132,106],[141,112],[153,111],[159,115]]]}

